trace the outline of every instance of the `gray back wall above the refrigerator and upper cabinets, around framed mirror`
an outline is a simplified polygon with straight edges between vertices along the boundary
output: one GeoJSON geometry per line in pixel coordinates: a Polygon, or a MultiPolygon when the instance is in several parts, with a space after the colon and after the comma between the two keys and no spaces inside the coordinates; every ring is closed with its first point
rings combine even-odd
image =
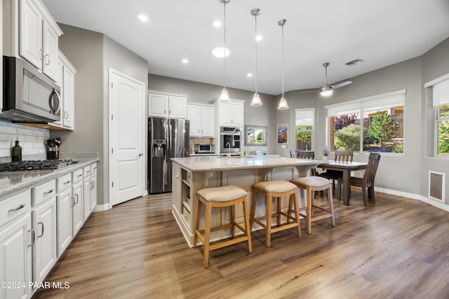
{"type": "MultiPolygon", "coordinates": [[[[150,70],[151,71],[151,70],[150,70]]],[[[222,90],[222,86],[187,81],[177,78],[169,78],[164,76],[148,75],[148,88],[150,90],[161,90],[165,92],[179,93],[188,95],[187,102],[208,103],[216,99],[222,90]]],[[[262,106],[252,107],[251,99],[254,92],[247,90],[238,90],[227,88],[229,97],[232,99],[245,100],[245,125],[264,125],[270,128],[268,136],[269,146],[248,146],[247,151],[267,151],[267,153],[276,152],[276,131],[271,130],[276,127],[276,118],[272,111],[276,110],[276,97],[260,93],[262,106]]]]}

